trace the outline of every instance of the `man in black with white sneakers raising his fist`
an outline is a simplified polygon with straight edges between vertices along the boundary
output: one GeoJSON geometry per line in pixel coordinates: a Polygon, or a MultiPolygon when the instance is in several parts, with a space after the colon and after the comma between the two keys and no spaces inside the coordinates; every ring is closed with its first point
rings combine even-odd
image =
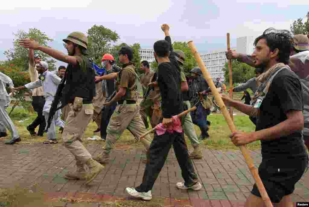
{"type": "Polygon", "coordinates": [[[194,172],[192,161],[189,159],[184,133],[177,132],[178,130],[174,128],[172,120],[172,116],[183,111],[183,99],[180,90],[180,71],[168,58],[169,43],[166,40],[155,42],[154,50],[155,58],[159,63],[157,81],[162,97],[162,124],[166,127],[171,127],[172,132],[167,130],[162,135],[158,135],[157,132],[155,132],[154,139],[149,149],[150,161],[146,163],[142,184],[136,188],[126,188],[129,195],[142,198],[143,200],[151,199],[151,189],[163,168],[172,145],[184,178],[184,182],[177,183],[176,187],[179,189],[193,190],[202,188],[194,172]]]}

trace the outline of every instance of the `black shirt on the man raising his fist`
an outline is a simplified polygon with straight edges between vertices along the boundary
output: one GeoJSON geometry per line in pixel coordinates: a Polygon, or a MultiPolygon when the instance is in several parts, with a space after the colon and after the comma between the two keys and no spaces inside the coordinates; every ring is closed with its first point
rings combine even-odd
{"type": "Polygon", "coordinates": [[[171,118],[183,111],[180,71],[171,62],[158,66],[158,85],[162,97],[162,115],[171,118]]]}

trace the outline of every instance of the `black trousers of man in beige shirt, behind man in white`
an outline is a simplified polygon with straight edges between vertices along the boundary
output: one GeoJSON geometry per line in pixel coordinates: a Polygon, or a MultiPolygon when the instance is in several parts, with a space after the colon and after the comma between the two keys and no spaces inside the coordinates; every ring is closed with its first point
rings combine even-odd
{"type": "Polygon", "coordinates": [[[34,130],[37,126],[39,126],[38,135],[43,135],[46,122],[45,117],[43,116],[43,107],[45,104],[44,96],[32,96],[32,106],[34,111],[38,113],[36,119],[28,126],[30,130],[34,130]]]}

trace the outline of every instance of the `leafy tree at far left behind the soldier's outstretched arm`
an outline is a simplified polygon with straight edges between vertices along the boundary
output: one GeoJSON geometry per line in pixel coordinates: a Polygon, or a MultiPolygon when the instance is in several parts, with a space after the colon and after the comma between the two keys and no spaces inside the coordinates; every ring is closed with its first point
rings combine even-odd
{"type": "MultiPolygon", "coordinates": [[[[13,48],[6,50],[4,52],[4,55],[6,55],[11,64],[14,64],[16,67],[20,68],[23,71],[28,71],[29,50],[19,46],[19,39],[36,39],[36,41],[38,41],[41,45],[44,46],[48,46],[48,42],[53,41],[53,39],[50,39],[45,34],[45,32],[42,32],[36,28],[29,28],[29,32],[25,32],[24,30],[18,30],[18,32],[14,35],[15,39],[13,39],[13,48]]],[[[35,51],[35,53],[40,53],[40,55],[42,56],[42,60],[48,63],[49,70],[55,70],[55,59],[40,51],[35,51]]]]}

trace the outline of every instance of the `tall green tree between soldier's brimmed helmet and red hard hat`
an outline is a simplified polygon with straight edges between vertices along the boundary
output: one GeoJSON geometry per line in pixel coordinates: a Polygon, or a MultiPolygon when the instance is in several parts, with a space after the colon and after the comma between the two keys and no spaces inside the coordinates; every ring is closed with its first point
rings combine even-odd
{"type": "Polygon", "coordinates": [[[102,56],[111,48],[111,42],[115,43],[120,37],[115,31],[102,25],[93,25],[87,34],[88,56],[93,59],[94,63],[100,65],[102,56]]]}

